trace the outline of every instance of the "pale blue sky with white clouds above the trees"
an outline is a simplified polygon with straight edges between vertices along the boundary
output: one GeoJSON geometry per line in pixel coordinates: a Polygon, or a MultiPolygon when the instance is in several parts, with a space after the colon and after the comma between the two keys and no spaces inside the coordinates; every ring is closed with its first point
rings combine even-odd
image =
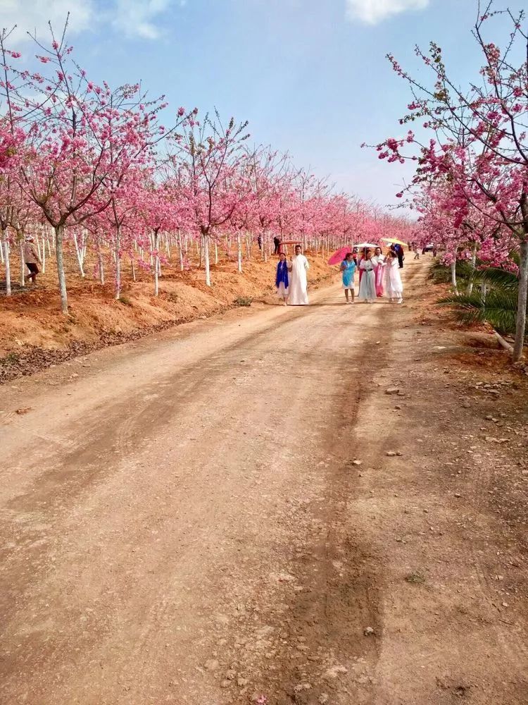
{"type": "Polygon", "coordinates": [[[398,135],[409,102],[385,54],[417,73],[413,47],[434,39],[461,82],[478,68],[476,0],[0,0],[23,51],[23,30],[43,37],[46,20],[58,25],[68,11],[90,78],[142,80],[173,109],[216,106],[249,120],[256,143],[379,204],[396,202],[403,171],[360,145],[398,135]]]}

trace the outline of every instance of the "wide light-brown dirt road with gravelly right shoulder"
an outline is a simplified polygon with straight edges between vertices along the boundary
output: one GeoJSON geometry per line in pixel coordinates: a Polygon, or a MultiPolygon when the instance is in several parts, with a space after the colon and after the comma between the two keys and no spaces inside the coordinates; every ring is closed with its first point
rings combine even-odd
{"type": "Polygon", "coordinates": [[[405,271],[3,388],[2,704],[528,703],[526,388],[405,271]]]}

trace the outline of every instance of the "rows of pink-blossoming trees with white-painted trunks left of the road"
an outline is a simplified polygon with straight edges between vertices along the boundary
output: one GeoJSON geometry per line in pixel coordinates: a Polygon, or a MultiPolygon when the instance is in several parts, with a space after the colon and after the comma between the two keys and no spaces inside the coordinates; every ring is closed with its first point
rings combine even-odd
{"type": "MultiPolygon", "coordinates": [[[[382,236],[410,239],[413,226],[294,167],[268,147],[249,147],[246,123],[168,110],[138,84],[96,85],[73,59],[65,33],[35,58],[0,37],[4,111],[0,123],[1,259],[11,295],[11,259],[27,235],[42,261],[56,260],[61,309],[68,312],[65,253],[81,277],[112,278],[120,298],[123,262],[150,272],[158,295],[171,257],[183,271],[199,251],[207,286],[222,250],[241,272],[258,240],[295,238],[320,252],[382,236]],[[35,59],[39,70],[34,68],[35,59]],[[170,126],[161,114],[172,114],[170,126]],[[96,268],[87,271],[88,261],[96,268]]],[[[23,281],[23,265],[20,267],[23,281]]]]}

